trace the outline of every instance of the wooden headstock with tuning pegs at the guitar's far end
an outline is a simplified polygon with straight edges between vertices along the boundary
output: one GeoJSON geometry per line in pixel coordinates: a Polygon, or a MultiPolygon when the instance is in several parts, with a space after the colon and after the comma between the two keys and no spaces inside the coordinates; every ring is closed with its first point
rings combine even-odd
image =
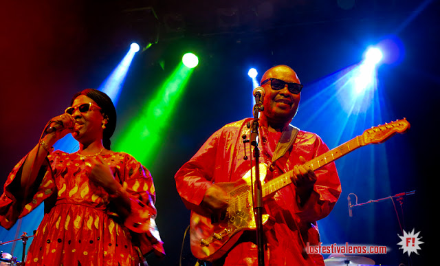
{"type": "Polygon", "coordinates": [[[395,133],[405,133],[409,128],[410,123],[404,118],[380,126],[373,126],[371,129],[366,129],[366,131],[362,133],[362,137],[364,139],[364,144],[382,143],[395,135],[395,133]]]}

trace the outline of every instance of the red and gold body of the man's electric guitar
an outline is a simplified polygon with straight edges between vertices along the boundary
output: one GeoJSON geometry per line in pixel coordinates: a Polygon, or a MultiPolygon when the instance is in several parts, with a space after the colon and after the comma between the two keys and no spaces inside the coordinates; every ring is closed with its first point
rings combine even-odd
{"type": "MultiPolygon", "coordinates": [[[[260,173],[264,173],[263,176],[260,174],[261,179],[264,179],[266,170],[265,165],[261,164],[260,173]]],[[[221,258],[238,241],[244,230],[256,229],[250,171],[239,181],[216,184],[229,191],[227,210],[215,219],[208,213],[191,212],[191,252],[202,261],[221,258]]],[[[269,215],[263,214],[263,224],[268,219],[269,215]]]]}

